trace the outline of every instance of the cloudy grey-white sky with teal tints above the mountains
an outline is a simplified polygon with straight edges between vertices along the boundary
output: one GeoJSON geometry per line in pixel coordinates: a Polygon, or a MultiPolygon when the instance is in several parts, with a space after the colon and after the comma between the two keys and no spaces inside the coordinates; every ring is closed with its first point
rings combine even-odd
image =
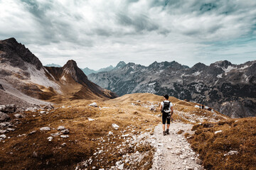
{"type": "Polygon", "coordinates": [[[256,60],[255,0],[0,0],[0,39],[43,64],[256,60]]]}

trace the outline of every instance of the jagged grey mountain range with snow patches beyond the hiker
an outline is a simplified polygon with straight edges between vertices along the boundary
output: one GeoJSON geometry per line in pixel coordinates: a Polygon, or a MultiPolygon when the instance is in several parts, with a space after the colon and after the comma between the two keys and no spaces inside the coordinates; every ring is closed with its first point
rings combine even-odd
{"type": "Polygon", "coordinates": [[[149,67],[128,63],[110,72],[90,74],[90,81],[122,96],[169,94],[215,108],[231,118],[256,116],[256,61],[220,61],[189,68],[178,62],[154,62],[149,67]]]}

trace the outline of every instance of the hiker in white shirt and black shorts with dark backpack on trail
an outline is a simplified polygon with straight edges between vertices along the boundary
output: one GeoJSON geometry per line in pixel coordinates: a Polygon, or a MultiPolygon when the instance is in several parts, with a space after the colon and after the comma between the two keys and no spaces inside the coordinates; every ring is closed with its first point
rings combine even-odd
{"type": "Polygon", "coordinates": [[[164,101],[161,102],[160,111],[162,113],[162,122],[163,122],[163,134],[169,135],[169,128],[170,128],[170,120],[171,116],[174,114],[174,108],[171,101],[168,101],[169,96],[166,94],[164,95],[164,101]],[[165,131],[165,124],[167,120],[167,129],[165,131]]]}

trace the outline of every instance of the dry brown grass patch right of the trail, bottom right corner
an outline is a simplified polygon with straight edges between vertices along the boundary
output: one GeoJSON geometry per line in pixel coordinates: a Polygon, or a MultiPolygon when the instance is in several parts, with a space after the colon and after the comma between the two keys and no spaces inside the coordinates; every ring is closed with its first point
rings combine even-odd
{"type": "Polygon", "coordinates": [[[256,118],[242,118],[194,125],[188,141],[206,169],[256,169],[255,124],[256,118]],[[238,153],[226,155],[230,151],[238,153]]]}

